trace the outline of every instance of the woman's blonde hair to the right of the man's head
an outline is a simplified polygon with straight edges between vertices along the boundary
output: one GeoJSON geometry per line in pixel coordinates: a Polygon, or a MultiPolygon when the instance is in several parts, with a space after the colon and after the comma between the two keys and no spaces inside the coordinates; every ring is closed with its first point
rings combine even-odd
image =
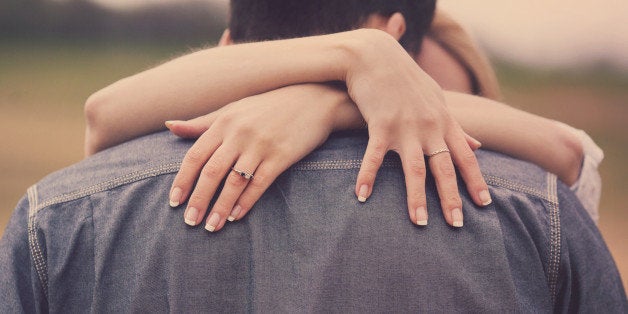
{"type": "Polygon", "coordinates": [[[495,100],[501,98],[493,67],[460,24],[442,10],[437,10],[427,36],[437,42],[467,70],[473,94],[495,100]]]}

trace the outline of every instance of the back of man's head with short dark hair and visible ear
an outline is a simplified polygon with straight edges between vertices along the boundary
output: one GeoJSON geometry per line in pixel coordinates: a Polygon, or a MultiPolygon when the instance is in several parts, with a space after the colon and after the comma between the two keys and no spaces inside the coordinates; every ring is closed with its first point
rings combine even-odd
{"type": "Polygon", "coordinates": [[[399,42],[417,53],[435,5],[435,0],[231,0],[229,29],[234,42],[252,42],[360,27],[387,30],[391,21],[388,27],[395,27],[399,42]]]}

